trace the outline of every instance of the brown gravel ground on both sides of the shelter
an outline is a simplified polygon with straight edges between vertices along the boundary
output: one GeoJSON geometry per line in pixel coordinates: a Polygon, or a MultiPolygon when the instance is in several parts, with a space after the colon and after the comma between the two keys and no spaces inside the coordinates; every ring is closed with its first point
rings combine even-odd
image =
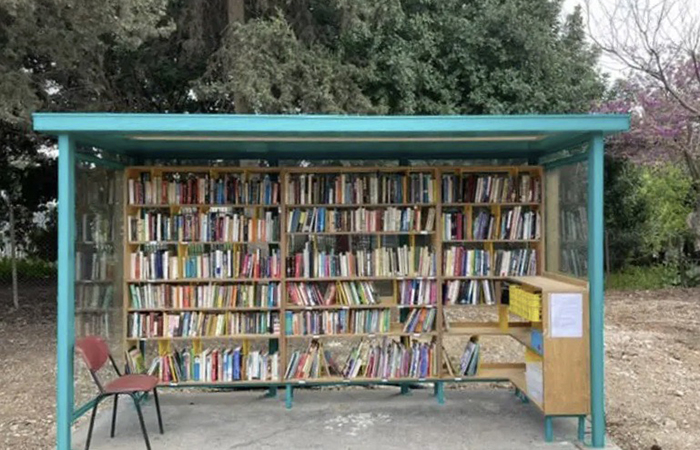
{"type": "MultiPolygon", "coordinates": [[[[55,291],[23,290],[20,311],[0,286],[0,448],[55,446],[55,291]],[[48,299],[37,302],[37,299],[48,299]]],[[[700,289],[607,295],[609,431],[624,450],[700,448],[700,289]]],[[[477,312],[478,314],[478,312],[477,312]]],[[[451,353],[452,345],[448,345],[451,353]]],[[[455,343],[455,352],[461,343],[455,343]]],[[[483,341],[489,361],[513,360],[512,342],[483,341]]],[[[76,397],[93,392],[82,372],[76,397]]]]}

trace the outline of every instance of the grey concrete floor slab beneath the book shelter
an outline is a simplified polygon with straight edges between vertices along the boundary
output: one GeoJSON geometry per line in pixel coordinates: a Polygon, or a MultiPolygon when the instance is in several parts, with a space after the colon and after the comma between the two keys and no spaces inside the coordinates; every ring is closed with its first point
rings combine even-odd
{"type": "MultiPolygon", "coordinates": [[[[444,405],[437,404],[432,389],[404,396],[398,388],[297,390],[291,410],[285,409],[282,390],[276,399],[264,398],[260,391],[164,391],[165,434],[158,434],[153,402],[144,407],[153,450],[569,450],[580,445],[576,420],[565,418],[554,420],[555,442],[545,443],[542,414],[506,389],[446,390],[444,405]]],[[[109,438],[112,401],[100,405],[90,448],[145,448],[136,411],[127,400],[120,399],[114,439],[109,438]]],[[[87,425],[83,420],[76,427],[73,448],[84,448],[87,425]]]]}

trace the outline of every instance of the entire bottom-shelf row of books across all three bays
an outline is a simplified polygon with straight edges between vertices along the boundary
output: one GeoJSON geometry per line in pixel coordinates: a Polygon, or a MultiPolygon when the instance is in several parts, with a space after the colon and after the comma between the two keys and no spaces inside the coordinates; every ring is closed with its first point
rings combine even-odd
{"type": "MultiPolygon", "coordinates": [[[[474,376],[479,365],[479,343],[472,337],[454,366],[443,348],[446,376],[474,376]],[[459,370],[457,370],[459,367],[459,370]]],[[[184,347],[155,356],[148,367],[136,347],[126,353],[130,373],[148,373],[162,383],[234,381],[278,381],[280,361],[277,352],[245,350],[244,346],[184,347]]],[[[312,340],[288,358],[285,380],[344,378],[389,380],[436,378],[440,376],[434,340],[362,339],[347,351],[343,365],[318,340],[312,340]]]]}

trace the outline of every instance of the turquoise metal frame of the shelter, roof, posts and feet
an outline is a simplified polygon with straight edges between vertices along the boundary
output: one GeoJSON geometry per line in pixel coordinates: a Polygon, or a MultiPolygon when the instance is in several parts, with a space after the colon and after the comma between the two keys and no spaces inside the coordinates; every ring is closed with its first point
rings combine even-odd
{"type": "MultiPolygon", "coordinates": [[[[119,169],[121,164],[79,155],[77,145],[98,146],[130,158],[191,159],[354,158],[520,158],[538,161],[547,155],[588,145],[585,157],[547,163],[548,167],[588,161],[591,357],[591,446],[605,446],[603,351],[603,156],[604,137],[629,129],[627,115],[549,116],[247,116],[202,114],[34,115],[36,131],[58,136],[59,275],[57,345],[57,438],[59,450],[71,448],[71,422],[88,405],[74,410],[75,341],[75,165],[78,159],[119,169]],[[415,142],[414,142],[415,141],[415,142]],[[211,151],[203,148],[211,147],[211,151]],[[315,147],[320,152],[308,152],[315,147]],[[407,148],[410,151],[403,152],[407,148]],[[450,149],[449,151],[445,149],[450,149]],[[176,151],[175,151],[176,150],[176,151]],[[335,152],[333,154],[332,152],[335,152]]],[[[294,386],[283,382],[291,406],[294,386]]],[[[273,386],[274,387],[274,386],[273,386]]],[[[402,393],[410,392],[401,385],[402,393]]],[[[271,390],[272,394],[274,391],[271,390]]],[[[516,393],[517,394],[517,393],[516,393]]],[[[522,393],[520,393],[522,395],[522,393]]],[[[444,402],[444,384],[435,384],[444,402]]],[[[526,399],[522,396],[521,399],[526,399]]],[[[579,418],[579,435],[583,421],[579,418]]],[[[549,430],[549,431],[548,431],[549,430]]],[[[551,416],[545,417],[551,436],[551,416]]],[[[580,436],[581,437],[581,436],[580,436]]]]}

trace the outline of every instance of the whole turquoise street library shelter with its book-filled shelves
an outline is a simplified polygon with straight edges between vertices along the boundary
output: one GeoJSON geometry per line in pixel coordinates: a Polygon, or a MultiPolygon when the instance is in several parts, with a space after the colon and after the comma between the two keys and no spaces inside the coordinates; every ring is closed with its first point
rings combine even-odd
{"type": "Polygon", "coordinates": [[[41,113],[57,447],[77,337],[164,387],[511,383],[605,441],[603,157],[622,115],[41,113]],[[517,358],[491,344],[505,339],[517,358]],[[333,342],[333,345],[329,345],[333,342]]]}

